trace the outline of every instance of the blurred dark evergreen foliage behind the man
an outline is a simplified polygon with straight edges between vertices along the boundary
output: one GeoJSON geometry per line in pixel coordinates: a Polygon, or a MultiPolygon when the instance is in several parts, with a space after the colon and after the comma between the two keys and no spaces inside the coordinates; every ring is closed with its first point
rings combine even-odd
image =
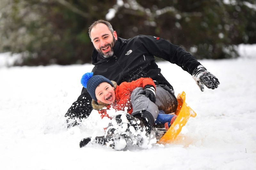
{"type": "Polygon", "coordinates": [[[154,35],[197,59],[237,57],[256,43],[255,0],[1,0],[0,52],[22,54],[16,65],[90,63],[88,27],[111,22],[117,35],[154,35]]]}

